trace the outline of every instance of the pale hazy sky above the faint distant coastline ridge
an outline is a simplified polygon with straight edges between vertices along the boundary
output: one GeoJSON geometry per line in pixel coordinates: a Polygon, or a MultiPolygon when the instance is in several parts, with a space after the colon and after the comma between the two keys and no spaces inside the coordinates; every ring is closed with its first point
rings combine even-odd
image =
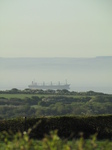
{"type": "Polygon", "coordinates": [[[112,0],[0,0],[0,57],[112,55],[112,0]]]}

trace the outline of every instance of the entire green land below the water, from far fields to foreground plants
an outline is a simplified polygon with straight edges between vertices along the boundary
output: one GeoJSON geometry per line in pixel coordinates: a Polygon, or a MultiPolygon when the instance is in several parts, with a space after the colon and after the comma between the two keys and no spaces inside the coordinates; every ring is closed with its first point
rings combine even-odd
{"type": "Polygon", "coordinates": [[[111,103],[93,91],[0,91],[0,147],[111,149],[111,103]]]}

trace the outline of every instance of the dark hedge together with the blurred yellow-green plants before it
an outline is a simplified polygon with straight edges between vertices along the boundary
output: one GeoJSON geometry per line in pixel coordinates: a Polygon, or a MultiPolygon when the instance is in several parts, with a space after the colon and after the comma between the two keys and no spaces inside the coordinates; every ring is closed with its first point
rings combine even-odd
{"type": "Polygon", "coordinates": [[[1,150],[111,150],[112,115],[0,121],[1,150]]]}

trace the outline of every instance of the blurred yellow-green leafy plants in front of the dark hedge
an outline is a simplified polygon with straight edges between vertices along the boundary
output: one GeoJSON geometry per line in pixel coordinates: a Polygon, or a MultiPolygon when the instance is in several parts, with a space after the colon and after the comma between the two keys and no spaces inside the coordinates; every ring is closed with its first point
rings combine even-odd
{"type": "MultiPolygon", "coordinates": [[[[30,132],[30,130],[29,130],[30,132]]],[[[23,134],[18,132],[14,136],[7,133],[0,134],[1,150],[111,150],[112,142],[109,140],[99,141],[96,135],[89,139],[84,139],[81,135],[79,139],[61,139],[57,131],[45,135],[42,140],[31,139],[29,132],[23,134]]]]}

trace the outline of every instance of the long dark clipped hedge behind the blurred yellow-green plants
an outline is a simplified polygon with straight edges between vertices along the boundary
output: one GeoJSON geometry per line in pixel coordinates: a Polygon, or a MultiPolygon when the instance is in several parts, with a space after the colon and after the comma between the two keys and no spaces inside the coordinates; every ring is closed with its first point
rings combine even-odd
{"type": "Polygon", "coordinates": [[[78,138],[83,133],[84,138],[97,133],[99,139],[111,139],[112,115],[102,116],[61,116],[40,118],[18,118],[0,120],[0,132],[24,132],[32,129],[31,138],[42,139],[50,131],[58,130],[61,138],[78,138]]]}

